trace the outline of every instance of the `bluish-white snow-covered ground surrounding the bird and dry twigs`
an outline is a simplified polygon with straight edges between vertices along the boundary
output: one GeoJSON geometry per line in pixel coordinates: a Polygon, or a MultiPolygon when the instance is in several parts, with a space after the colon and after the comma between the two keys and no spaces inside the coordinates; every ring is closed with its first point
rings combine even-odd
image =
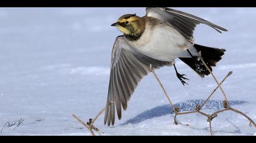
{"type": "MultiPolygon", "coordinates": [[[[196,43],[226,48],[214,68],[224,83],[232,107],[256,121],[256,8],[177,8],[229,30],[219,34],[199,25],[196,43]]],[[[144,8],[0,8],[0,130],[7,122],[24,119],[20,127],[3,128],[1,135],[90,135],[71,116],[87,121],[105,105],[113,42],[121,33],[110,25],[125,13],[144,15],[144,8]]],[[[199,78],[177,61],[190,78],[183,87],[171,67],[158,70],[172,101],[189,110],[216,87],[211,77],[199,78]]],[[[204,111],[221,107],[218,91],[204,111]]],[[[123,119],[102,135],[210,135],[204,116],[173,114],[154,76],[141,81],[123,119]]],[[[18,123],[17,123],[18,124],[18,123]]],[[[255,128],[236,113],[221,113],[213,121],[215,135],[255,135],[255,128]]]]}

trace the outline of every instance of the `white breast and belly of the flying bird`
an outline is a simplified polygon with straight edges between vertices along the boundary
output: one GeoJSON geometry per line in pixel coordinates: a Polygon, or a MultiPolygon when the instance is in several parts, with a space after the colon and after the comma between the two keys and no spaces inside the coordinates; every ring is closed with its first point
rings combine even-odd
{"type": "Polygon", "coordinates": [[[176,58],[188,56],[185,52],[189,46],[188,41],[167,24],[158,24],[155,27],[146,24],[141,38],[129,44],[144,55],[161,61],[174,61],[176,58]]]}

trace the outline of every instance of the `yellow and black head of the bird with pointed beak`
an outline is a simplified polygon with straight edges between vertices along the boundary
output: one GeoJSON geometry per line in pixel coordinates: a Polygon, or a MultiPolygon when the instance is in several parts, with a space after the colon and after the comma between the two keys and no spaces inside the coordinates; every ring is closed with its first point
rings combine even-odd
{"type": "Polygon", "coordinates": [[[124,35],[137,35],[144,31],[144,19],[136,14],[128,14],[121,16],[112,26],[124,33],[124,35]]]}

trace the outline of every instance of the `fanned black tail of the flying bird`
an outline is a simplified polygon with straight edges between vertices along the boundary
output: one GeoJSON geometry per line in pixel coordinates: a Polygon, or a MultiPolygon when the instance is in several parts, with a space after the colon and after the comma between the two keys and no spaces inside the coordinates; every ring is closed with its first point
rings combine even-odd
{"type": "MultiPolygon", "coordinates": [[[[197,44],[194,44],[194,48],[196,48],[198,52],[201,52],[202,59],[204,59],[205,63],[207,64],[211,71],[212,67],[216,66],[217,62],[219,62],[222,59],[221,56],[223,56],[224,52],[226,52],[225,49],[205,47],[203,45],[197,44]]],[[[185,62],[188,66],[190,66],[202,78],[204,78],[205,75],[210,75],[210,72],[197,57],[180,58],[180,60],[185,62]]]]}

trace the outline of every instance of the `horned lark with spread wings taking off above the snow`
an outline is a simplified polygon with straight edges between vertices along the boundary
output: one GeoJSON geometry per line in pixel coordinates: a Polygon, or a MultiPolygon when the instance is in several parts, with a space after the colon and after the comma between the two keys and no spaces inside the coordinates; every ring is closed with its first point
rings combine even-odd
{"type": "Polygon", "coordinates": [[[226,50],[194,44],[193,31],[197,24],[206,24],[216,31],[227,32],[212,22],[171,8],[146,8],[146,16],[123,15],[115,24],[122,36],[116,38],[108,85],[104,124],[114,125],[115,108],[118,119],[127,109],[133,91],[152,68],[174,65],[176,75],[186,84],[185,75],[178,73],[175,59],[179,58],[204,78],[210,72],[199,61],[199,52],[212,70],[226,50]]]}

